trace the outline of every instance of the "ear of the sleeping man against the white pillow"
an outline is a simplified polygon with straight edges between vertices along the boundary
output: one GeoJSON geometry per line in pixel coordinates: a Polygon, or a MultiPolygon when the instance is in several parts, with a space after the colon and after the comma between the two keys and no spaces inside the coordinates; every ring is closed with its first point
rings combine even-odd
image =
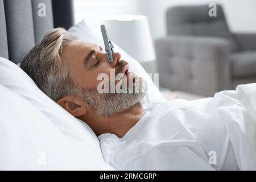
{"type": "Polygon", "coordinates": [[[61,97],[57,101],[57,104],[67,110],[74,117],[85,115],[87,111],[84,100],[73,95],[61,97]]]}

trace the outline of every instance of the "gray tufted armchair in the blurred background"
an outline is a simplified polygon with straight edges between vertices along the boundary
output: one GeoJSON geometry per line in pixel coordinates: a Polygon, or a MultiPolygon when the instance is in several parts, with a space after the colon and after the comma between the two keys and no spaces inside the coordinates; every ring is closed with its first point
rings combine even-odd
{"type": "Polygon", "coordinates": [[[239,84],[256,82],[256,34],[232,34],[221,6],[167,10],[167,33],[155,42],[159,85],[213,96],[239,84]]]}

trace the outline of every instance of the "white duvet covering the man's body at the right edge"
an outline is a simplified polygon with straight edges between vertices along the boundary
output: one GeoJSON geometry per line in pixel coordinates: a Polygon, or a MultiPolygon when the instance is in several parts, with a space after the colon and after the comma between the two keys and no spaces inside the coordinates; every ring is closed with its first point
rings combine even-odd
{"type": "Polygon", "coordinates": [[[238,166],[242,170],[255,170],[256,84],[239,85],[236,91],[217,93],[212,100],[225,123],[238,166]]]}

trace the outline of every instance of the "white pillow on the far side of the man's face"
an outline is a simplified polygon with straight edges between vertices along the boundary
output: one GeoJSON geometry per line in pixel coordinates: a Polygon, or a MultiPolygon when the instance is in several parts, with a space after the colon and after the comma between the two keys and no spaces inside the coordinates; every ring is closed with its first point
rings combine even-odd
{"type": "MultiPolygon", "coordinates": [[[[82,20],[80,23],[69,28],[68,32],[70,32],[77,38],[84,40],[85,42],[94,43],[101,46],[102,48],[105,48],[102,35],[98,34],[97,32],[93,32],[92,29],[88,26],[88,24],[86,24],[85,20],[82,20]]],[[[143,77],[147,81],[148,90],[145,97],[142,100],[144,109],[159,102],[166,101],[166,99],[162,96],[159,89],[155,86],[154,82],[152,82],[150,76],[148,76],[147,72],[144,70],[141,64],[139,64],[138,61],[129,56],[117,44],[113,43],[113,46],[114,51],[121,53],[122,59],[126,60],[129,63],[131,71],[143,77]]]]}

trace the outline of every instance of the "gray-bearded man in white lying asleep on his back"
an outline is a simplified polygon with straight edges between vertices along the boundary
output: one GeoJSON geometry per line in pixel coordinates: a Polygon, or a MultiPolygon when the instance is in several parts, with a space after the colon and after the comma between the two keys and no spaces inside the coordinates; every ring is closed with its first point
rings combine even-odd
{"type": "Polygon", "coordinates": [[[90,126],[105,161],[116,169],[255,169],[255,84],[144,109],[145,81],[129,71],[118,52],[113,59],[110,63],[101,47],[55,28],[20,67],[47,96],[90,126]],[[102,73],[109,84],[102,86],[102,73]],[[129,92],[108,92],[113,87],[129,92]]]}

